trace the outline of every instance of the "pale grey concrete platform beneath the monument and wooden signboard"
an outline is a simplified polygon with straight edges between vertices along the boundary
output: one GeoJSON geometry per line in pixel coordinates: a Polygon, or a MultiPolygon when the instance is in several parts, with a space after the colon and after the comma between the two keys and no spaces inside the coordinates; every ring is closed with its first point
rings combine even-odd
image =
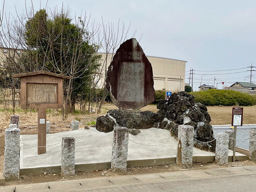
{"type": "MultiPolygon", "coordinates": [[[[129,135],[129,139],[134,142],[129,141],[128,166],[154,166],[176,162],[177,140],[174,140],[169,131],[156,128],[140,131],[136,136],[129,135]]],[[[46,147],[46,154],[41,155],[37,155],[37,135],[20,135],[20,175],[44,172],[59,173],[61,140],[62,137],[71,136],[78,141],[75,150],[76,171],[110,168],[113,132],[98,132],[95,128],[90,128],[47,134],[46,145],[49,147],[46,147]]],[[[232,151],[229,151],[228,156],[231,161],[232,151]]],[[[212,152],[202,151],[198,148],[193,149],[193,161],[195,162],[211,162],[214,161],[214,158],[215,154],[212,152]]],[[[244,161],[246,156],[236,153],[236,159],[244,161]]]]}

